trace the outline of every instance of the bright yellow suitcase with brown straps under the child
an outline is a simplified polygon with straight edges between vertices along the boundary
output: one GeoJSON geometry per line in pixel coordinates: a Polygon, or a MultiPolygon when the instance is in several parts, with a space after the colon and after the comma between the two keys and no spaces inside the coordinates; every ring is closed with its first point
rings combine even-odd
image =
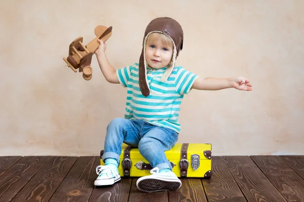
{"type": "MultiPolygon", "coordinates": [[[[207,143],[176,143],[170,150],[165,151],[170,161],[172,171],[177,177],[211,177],[211,144],[207,143]]],[[[100,151],[100,165],[103,150],[100,151]]],[[[122,145],[119,173],[123,177],[142,177],[150,175],[152,167],[140,155],[138,148],[127,144],[122,145]]]]}

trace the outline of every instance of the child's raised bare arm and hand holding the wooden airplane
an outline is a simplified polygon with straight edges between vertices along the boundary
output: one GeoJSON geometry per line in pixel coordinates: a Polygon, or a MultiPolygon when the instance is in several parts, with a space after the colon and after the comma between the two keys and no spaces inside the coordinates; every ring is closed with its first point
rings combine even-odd
{"type": "Polygon", "coordinates": [[[100,43],[100,45],[95,51],[95,55],[105,80],[109,83],[119,83],[119,80],[116,75],[116,69],[110,65],[105,55],[106,44],[103,43],[103,41],[100,39],[98,39],[98,42],[100,43]]]}

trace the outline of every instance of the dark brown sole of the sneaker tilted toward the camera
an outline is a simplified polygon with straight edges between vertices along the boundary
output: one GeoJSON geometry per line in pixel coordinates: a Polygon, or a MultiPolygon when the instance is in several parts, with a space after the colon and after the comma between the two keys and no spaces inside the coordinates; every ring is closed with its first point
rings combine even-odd
{"type": "Polygon", "coordinates": [[[160,179],[144,179],[137,184],[137,188],[145,192],[176,190],[181,186],[180,181],[160,179]]]}

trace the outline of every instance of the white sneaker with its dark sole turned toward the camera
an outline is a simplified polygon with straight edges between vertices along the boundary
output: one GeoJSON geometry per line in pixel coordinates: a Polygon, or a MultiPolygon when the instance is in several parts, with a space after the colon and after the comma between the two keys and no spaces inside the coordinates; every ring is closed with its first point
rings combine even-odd
{"type": "Polygon", "coordinates": [[[173,172],[159,172],[159,168],[150,170],[152,175],[141,177],[136,186],[145,192],[176,190],[181,186],[181,181],[173,172]]]}

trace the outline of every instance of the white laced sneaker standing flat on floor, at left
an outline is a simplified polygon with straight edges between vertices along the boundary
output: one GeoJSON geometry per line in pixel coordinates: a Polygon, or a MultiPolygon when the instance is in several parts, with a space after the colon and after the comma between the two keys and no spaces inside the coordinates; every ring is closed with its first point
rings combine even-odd
{"type": "Polygon", "coordinates": [[[96,173],[99,176],[94,182],[95,186],[111,185],[121,179],[117,170],[111,166],[97,166],[96,173]]]}

